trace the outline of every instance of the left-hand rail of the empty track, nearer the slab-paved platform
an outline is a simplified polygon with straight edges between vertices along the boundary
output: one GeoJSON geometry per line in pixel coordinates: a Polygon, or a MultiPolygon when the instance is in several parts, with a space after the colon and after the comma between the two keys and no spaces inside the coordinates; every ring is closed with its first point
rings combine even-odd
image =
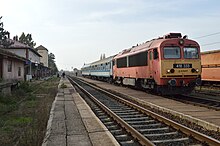
{"type": "Polygon", "coordinates": [[[91,95],[88,91],[86,91],[83,87],[81,87],[78,83],[76,83],[73,79],[69,78],[81,91],[83,91],[87,96],[89,96],[102,110],[104,110],[107,114],[109,114],[118,124],[126,129],[131,135],[138,140],[138,142],[142,145],[146,146],[155,146],[150,140],[148,140],[145,136],[131,127],[128,123],[126,123],[123,119],[121,119],[118,115],[112,112],[107,106],[97,100],[93,95],[91,95]]]}

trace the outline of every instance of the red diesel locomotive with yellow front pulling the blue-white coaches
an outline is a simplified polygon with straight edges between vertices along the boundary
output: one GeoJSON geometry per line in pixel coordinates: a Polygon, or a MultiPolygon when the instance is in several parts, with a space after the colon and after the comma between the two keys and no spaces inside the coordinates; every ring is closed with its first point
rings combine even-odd
{"type": "MultiPolygon", "coordinates": [[[[182,37],[181,33],[169,33],[133,46],[108,61],[111,74],[107,78],[124,85],[153,89],[162,94],[181,94],[201,84],[199,44],[182,37]]],[[[103,66],[103,61],[100,62],[103,66]]],[[[98,71],[95,77],[99,78],[103,70],[96,70],[92,64],[82,70],[98,71]]],[[[106,71],[105,67],[103,69],[106,71]]]]}

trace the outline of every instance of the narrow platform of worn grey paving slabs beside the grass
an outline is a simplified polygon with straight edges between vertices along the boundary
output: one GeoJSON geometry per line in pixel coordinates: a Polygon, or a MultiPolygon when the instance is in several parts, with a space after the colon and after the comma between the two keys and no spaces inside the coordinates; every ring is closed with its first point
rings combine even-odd
{"type": "Polygon", "coordinates": [[[119,144],[69,80],[61,78],[42,146],[103,145],[119,144]]]}

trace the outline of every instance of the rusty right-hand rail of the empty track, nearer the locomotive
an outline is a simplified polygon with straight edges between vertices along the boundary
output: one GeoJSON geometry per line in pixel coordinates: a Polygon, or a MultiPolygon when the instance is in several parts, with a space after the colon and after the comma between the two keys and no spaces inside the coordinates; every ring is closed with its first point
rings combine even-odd
{"type": "Polygon", "coordinates": [[[128,105],[130,107],[133,107],[133,108],[141,111],[142,113],[150,115],[150,116],[158,119],[159,121],[164,122],[165,124],[170,125],[173,128],[182,131],[183,133],[187,134],[188,136],[194,137],[195,139],[197,139],[197,140],[199,140],[201,142],[207,143],[210,146],[218,146],[218,145],[220,145],[220,141],[218,141],[218,140],[216,140],[216,139],[214,139],[214,138],[212,138],[210,136],[207,136],[205,134],[199,133],[199,132],[197,132],[197,131],[195,131],[193,129],[190,129],[190,128],[184,126],[184,125],[181,125],[181,124],[179,124],[179,123],[177,123],[175,121],[172,121],[172,120],[170,120],[168,118],[165,118],[165,117],[163,117],[163,116],[161,116],[159,114],[156,114],[156,113],[154,113],[154,112],[152,112],[150,110],[147,110],[147,109],[145,109],[145,108],[143,108],[143,107],[141,107],[141,106],[139,106],[139,105],[137,105],[135,103],[132,103],[132,102],[130,102],[128,100],[125,100],[125,99],[117,96],[117,95],[114,95],[114,94],[112,94],[112,93],[110,93],[108,91],[105,91],[102,88],[99,88],[97,86],[89,84],[89,83],[87,83],[85,81],[82,81],[82,82],[84,82],[85,84],[87,84],[87,85],[89,85],[89,86],[91,86],[91,87],[93,87],[93,88],[95,88],[95,89],[97,89],[97,90],[99,90],[99,91],[101,91],[101,92],[103,92],[105,94],[110,95],[111,97],[115,98],[118,101],[121,101],[122,103],[124,103],[124,104],[126,104],[126,105],[128,105]]]}

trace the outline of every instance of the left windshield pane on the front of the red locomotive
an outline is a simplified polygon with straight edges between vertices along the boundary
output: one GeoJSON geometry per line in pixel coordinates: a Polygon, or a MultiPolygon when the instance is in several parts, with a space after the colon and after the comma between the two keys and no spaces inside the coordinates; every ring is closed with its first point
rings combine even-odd
{"type": "Polygon", "coordinates": [[[166,59],[180,58],[180,47],[164,47],[163,50],[166,59]]]}

